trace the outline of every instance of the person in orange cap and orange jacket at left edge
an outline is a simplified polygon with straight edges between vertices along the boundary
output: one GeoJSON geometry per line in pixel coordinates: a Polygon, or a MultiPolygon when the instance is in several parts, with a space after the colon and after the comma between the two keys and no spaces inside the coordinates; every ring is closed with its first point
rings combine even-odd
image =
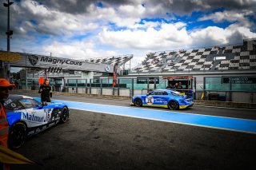
{"type": "MultiPolygon", "coordinates": [[[[6,148],[8,148],[9,123],[6,117],[4,100],[9,97],[9,90],[14,89],[14,87],[14,84],[10,84],[6,79],[0,78],[0,145],[6,148]]],[[[7,170],[10,169],[10,166],[9,164],[0,163],[0,169],[7,170]]]]}

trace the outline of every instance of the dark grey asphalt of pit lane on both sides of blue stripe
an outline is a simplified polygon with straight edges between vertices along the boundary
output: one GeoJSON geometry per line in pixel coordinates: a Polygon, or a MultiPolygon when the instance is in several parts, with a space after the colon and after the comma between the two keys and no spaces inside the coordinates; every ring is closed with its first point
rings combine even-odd
{"type": "MultiPolygon", "coordinates": [[[[127,100],[54,99],[130,105],[127,100]]],[[[246,109],[194,105],[178,112],[256,120],[255,110],[246,109]]],[[[256,135],[70,109],[66,124],[30,137],[17,152],[43,166],[11,169],[254,169],[256,135]]]]}

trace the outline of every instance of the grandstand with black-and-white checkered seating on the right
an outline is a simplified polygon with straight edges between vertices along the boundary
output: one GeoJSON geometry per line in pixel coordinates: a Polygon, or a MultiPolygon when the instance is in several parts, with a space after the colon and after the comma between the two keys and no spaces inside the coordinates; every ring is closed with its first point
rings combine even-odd
{"type": "Polygon", "coordinates": [[[256,70],[256,38],[240,45],[212,46],[156,52],[130,71],[130,75],[148,73],[218,73],[256,70]]]}

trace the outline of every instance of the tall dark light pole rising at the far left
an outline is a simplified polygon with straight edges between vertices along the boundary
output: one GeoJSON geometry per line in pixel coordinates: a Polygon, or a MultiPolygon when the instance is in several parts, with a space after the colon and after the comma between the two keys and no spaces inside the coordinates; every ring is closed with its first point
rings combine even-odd
{"type": "MultiPolygon", "coordinates": [[[[12,34],[14,34],[13,30],[10,30],[10,6],[13,4],[14,2],[10,2],[10,0],[7,0],[7,3],[3,3],[3,6],[7,7],[8,9],[8,16],[7,16],[7,31],[6,31],[6,35],[7,35],[7,53],[10,53],[10,36],[12,34]]],[[[7,73],[6,73],[6,78],[7,80],[10,81],[10,61],[8,61],[7,63],[7,73]]]]}

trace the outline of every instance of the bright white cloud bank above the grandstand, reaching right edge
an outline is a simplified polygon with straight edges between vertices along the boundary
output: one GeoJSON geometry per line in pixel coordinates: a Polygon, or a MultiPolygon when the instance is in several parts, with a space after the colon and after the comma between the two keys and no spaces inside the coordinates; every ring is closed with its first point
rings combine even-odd
{"type": "Polygon", "coordinates": [[[111,31],[105,28],[102,33],[98,34],[103,44],[113,45],[116,48],[158,51],[242,43],[243,38],[255,37],[256,33],[240,24],[232,24],[225,29],[208,26],[188,33],[186,24],[183,22],[162,23],[160,30],[149,28],[147,30],[111,31]]]}

